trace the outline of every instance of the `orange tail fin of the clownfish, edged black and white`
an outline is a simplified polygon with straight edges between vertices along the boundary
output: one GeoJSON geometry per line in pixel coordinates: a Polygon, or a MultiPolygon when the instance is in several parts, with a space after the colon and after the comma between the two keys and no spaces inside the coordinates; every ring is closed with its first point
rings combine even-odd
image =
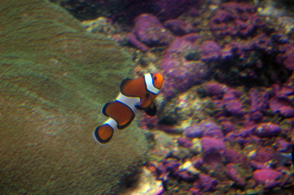
{"type": "Polygon", "coordinates": [[[113,128],[109,124],[104,124],[96,128],[93,132],[93,138],[98,144],[106,144],[113,135],[113,128]]]}

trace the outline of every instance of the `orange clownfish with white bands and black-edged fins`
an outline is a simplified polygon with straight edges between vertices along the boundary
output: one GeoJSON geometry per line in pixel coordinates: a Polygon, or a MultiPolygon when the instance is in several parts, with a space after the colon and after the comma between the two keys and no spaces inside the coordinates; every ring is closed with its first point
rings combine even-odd
{"type": "Polygon", "coordinates": [[[118,97],[102,108],[102,114],[109,118],[94,130],[94,140],[100,145],[109,142],[114,130],[122,130],[130,125],[139,110],[154,116],[157,112],[154,100],[162,85],[163,76],[159,73],[148,73],[136,79],[124,79],[118,97]]]}

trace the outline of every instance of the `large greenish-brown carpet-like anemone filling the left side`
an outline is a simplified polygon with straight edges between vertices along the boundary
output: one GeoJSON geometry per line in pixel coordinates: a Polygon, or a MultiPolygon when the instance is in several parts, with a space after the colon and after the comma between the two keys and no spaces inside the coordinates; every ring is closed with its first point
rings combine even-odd
{"type": "Polygon", "coordinates": [[[115,194],[147,141],[136,123],[104,147],[92,132],[130,56],[46,0],[2,0],[0,15],[1,194],[115,194]]]}

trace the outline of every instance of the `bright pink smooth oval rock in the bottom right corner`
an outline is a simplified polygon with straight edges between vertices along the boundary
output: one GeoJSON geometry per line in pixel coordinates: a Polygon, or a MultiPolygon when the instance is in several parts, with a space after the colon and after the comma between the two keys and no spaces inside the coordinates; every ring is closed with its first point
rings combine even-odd
{"type": "Polygon", "coordinates": [[[281,184],[278,181],[280,177],[282,177],[282,173],[271,169],[260,169],[253,172],[253,179],[257,183],[263,184],[266,189],[279,186],[281,184]]]}

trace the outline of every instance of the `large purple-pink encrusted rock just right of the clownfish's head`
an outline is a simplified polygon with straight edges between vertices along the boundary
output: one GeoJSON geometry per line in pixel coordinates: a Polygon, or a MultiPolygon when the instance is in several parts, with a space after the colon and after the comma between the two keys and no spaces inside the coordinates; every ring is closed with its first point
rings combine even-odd
{"type": "Polygon", "coordinates": [[[161,68],[165,74],[163,90],[167,97],[185,91],[209,76],[208,66],[204,62],[189,58],[199,53],[194,44],[196,37],[188,34],[176,38],[165,51],[161,68]]]}

